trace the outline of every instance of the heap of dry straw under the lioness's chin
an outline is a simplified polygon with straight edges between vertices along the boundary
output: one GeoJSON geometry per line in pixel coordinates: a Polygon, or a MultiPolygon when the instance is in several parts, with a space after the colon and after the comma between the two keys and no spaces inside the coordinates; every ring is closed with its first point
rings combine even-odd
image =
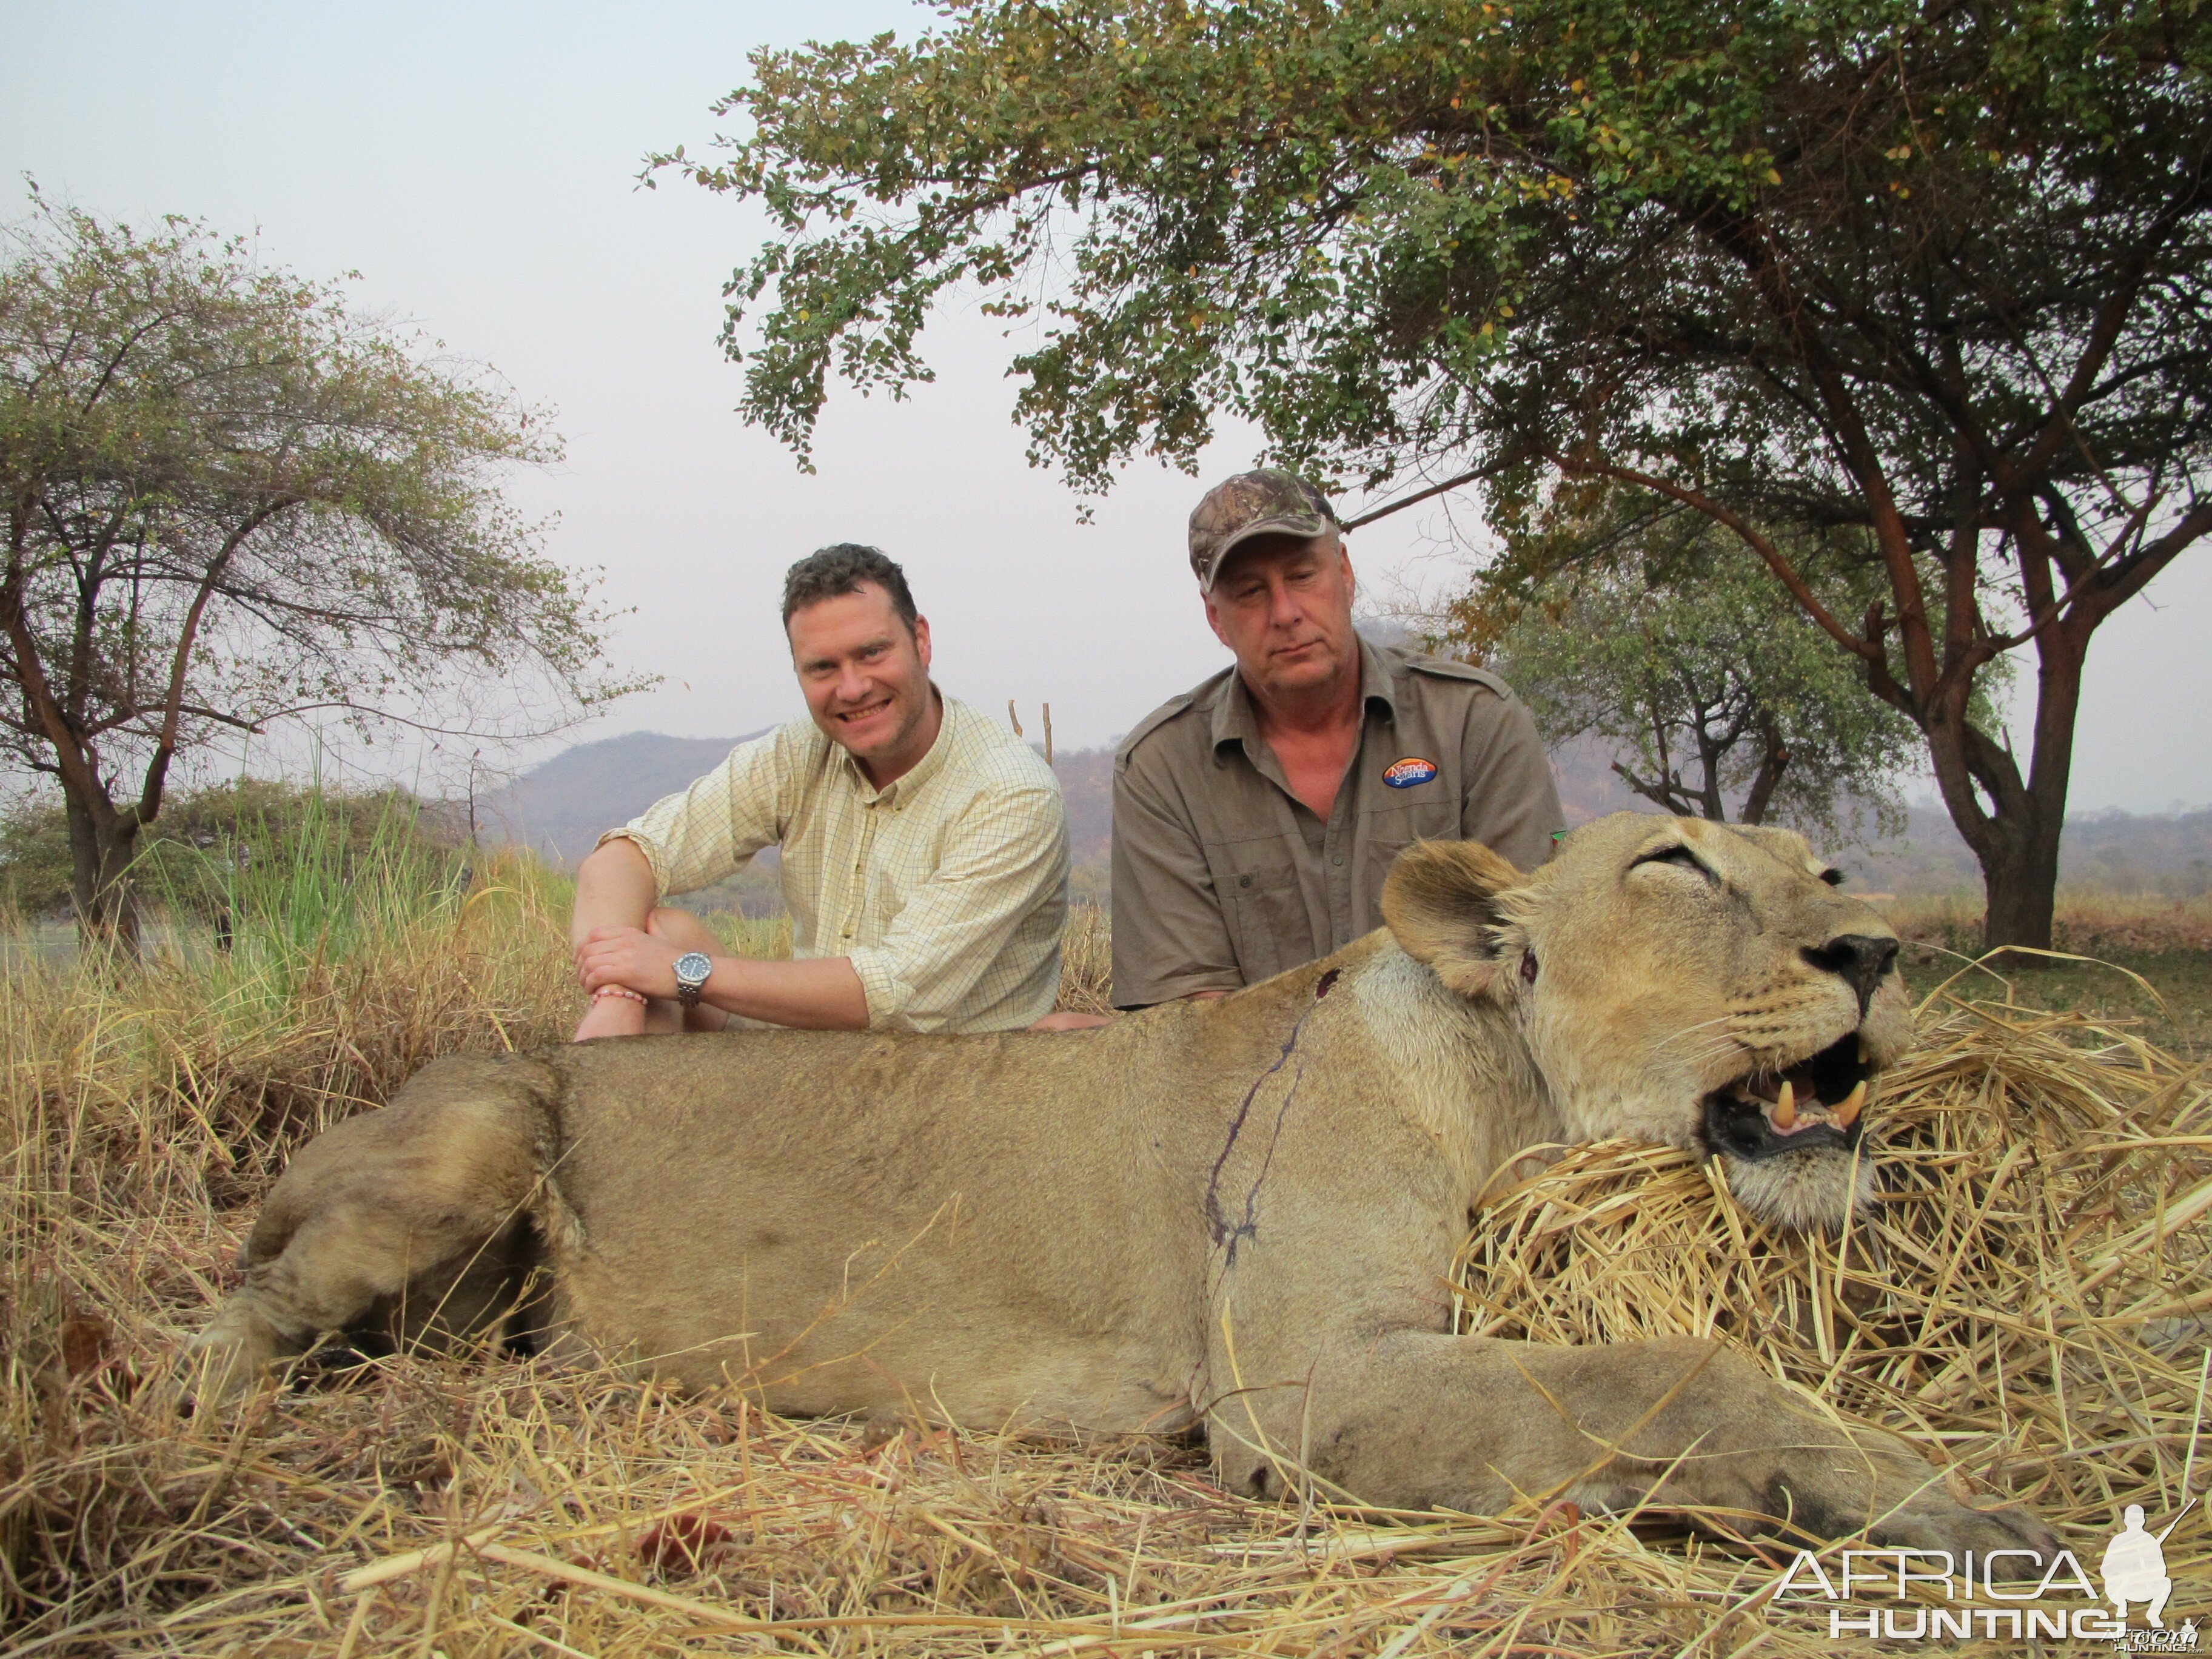
{"type": "MultiPolygon", "coordinates": [[[[1953,1006],[1871,1110],[1880,1199],[1843,1239],[1747,1219],[1721,1166],[1683,1152],[1566,1152],[1471,1239],[1464,1327],[1721,1334],[2055,1524],[2181,1509],[2212,1343],[2203,1068],[2070,1018],[1953,1006]]],[[[2208,1475],[2199,1460],[2190,1489],[2208,1475]]],[[[2212,1533],[2192,1537],[2212,1568],[2212,1533]]]]}

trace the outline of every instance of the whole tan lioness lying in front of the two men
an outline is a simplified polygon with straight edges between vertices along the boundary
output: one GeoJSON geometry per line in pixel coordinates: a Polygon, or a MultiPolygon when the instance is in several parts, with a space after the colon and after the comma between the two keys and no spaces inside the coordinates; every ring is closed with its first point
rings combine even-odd
{"type": "MultiPolygon", "coordinates": [[[[1484,1188],[1546,1141],[1714,1152],[1790,1225],[1860,1199],[1898,940],[1787,832],[1619,814],[1522,876],[1420,843],[1387,927],[1086,1035],[763,1031],[427,1066],[305,1146],[201,1338],[467,1329],[551,1267],[555,1347],[787,1413],[1203,1425],[1221,1480],[1495,1513],[2039,1551],[1902,1440],[1703,1340],[1449,1334],[1484,1188]]],[[[2026,1557],[2002,1557],[2026,1566],[2026,1557]]]]}

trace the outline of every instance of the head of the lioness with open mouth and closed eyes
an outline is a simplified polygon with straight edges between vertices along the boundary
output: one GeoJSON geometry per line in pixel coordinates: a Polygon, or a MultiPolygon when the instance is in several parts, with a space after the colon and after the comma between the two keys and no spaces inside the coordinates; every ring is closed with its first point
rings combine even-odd
{"type": "Polygon", "coordinates": [[[1409,847],[1383,889],[1398,945],[1504,1009],[1568,1135],[1728,1159],[1792,1228],[1871,1192],[1880,1071],[1911,1042],[1898,936],[1787,830],[1619,812],[1524,876],[1489,847],[1409,847]]]}

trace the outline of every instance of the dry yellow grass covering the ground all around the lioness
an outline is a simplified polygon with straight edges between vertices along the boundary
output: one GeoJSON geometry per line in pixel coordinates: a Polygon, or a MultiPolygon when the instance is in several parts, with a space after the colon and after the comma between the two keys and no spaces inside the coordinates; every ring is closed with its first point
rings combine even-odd
{"type": "MultiPolygon", "coordinates": [[[[285,1148],[427,1053],[564,1031],[557,909],[509,867],[279,978],[0,984],[13,1652],[1832,1652],[1823,1615],[1765,1606],[1770,1559],[1679,1526],[1301,1515],[1155,1440],[785,1422],[495,1356],[181,1416],[168,1358],[285,1148]]],[[[1071,1000],[1097,1006],[1079,927],[1071,1000]]],[[[1577,1148],[1484,1219],[1469,1327],[1725,1332],[2095,1566],[2115,1504],[2161,1526],[2212,1475],[2205,1071],[2079,1020],[1931,1013],[1878,1106],[1880,1221],[1840,1259],[1763,1237],[1681,1155],[1577,1148]]],[[[2208,1540],[2199,1504],[2166,1542],[2174,1613],[2212,1610],[2208,1540]]]]}

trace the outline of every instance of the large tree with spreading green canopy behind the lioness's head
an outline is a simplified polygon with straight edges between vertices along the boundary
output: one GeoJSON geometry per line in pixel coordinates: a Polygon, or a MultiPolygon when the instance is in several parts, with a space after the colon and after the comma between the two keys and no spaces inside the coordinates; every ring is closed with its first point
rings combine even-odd
{"type": "Polygon", "coordinates": [[[964,285],[1035,319],[1015,411],[1084,489],[1230,409],[1480,482],[1515,555],[1590,484],[1708,515],[1924,734],[1989,942],[2044,945],[2088,641],[2212,531],[2208,66],[2199,0],[967,0],[757,53],[750,133],[661,161],[779,219],[728,341],[801,453],[964,285]]]}

